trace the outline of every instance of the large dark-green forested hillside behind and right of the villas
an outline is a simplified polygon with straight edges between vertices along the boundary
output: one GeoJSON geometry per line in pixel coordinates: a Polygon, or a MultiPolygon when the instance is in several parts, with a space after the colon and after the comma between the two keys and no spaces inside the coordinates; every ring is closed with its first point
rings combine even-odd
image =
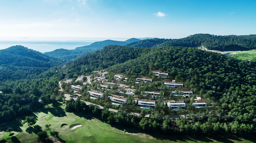
{"type": "MultiPolygon", "coordinates": [[[[171,79],[190,87],[193,94],[218,102],[218,118],[214,121],[209,118],[208,121],[233,125],[255,123],[255,64],[197,48],[144,49],[150,52],[136,59],[115,64],[107,70],[111,73],[123,73],[128,77],[135,75],[135,78],[141,75],[152,77],[152,70],[163,70],[169,73],[171,79]]],[[[207,113],[204,116],[207,121],[207,113]]],[[[188,121],[188,124],[190,123],[188,121]]],[[[237,129],[233,125],[227,128],[237,129]]]]}

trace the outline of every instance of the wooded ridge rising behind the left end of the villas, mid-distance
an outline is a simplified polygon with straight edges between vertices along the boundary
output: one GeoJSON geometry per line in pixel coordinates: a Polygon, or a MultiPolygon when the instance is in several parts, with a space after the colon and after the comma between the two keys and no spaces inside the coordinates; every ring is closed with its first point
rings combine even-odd
{"type": "Polygon", "coordinates": [[[67,77],[81,75],[84,72],[90,73],[96,69],[108,68],[117,63],[135,59],[149,52],[146,48],[134,48],[119,45],[109,45],[77,60],[68,62],[67,77]]]}

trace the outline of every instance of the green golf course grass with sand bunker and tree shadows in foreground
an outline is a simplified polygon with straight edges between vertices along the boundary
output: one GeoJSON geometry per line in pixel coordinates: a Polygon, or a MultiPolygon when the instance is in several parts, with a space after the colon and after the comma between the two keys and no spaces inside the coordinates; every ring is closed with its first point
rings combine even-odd
{"type": "MultiPolygon", "coordinates": [[[[228,142],[228,143],[251,143],[256,141],[255,137],[237,137],[237,136],[208,136],[208,135],[164,135],[164,134],[149,134],[142,132],[141,130],[109,125],[101,122],[98,117],[80,113],[67,113],[63,110],[61,103],[56,105],[45,106],[45,108],[39,108],[30,116],[35,116],[37,122],[35,125],[28,126],[28,124],[22,125],[20,122],[25,119],[25,116],[20,117],[15,122],[6,123],[0,125],[0,131],[5,131],[8,127],[14,129],[13,137],[9,136],[9,132],[0,132],[0,143],[5,142],[21,142],[21,143],[33,143],[37,142],[37,135],[35,134],[36,125],[42,127],[42,130],[46,130],[48,135],[50,131],[46,129],[45,124],[51,124],[51,131],[59,131],[61,139],[67,143],[174,143],[174,142],[187,142],[187,143],[204,143],[204,142],[228,142]],[[75,125],[82,125],[71,130],[75,125]],[[88,126],[90,126],[88,128],[88,126]],[[2,137],[5,140],[2,140],[2,137]]],[[[38,126],[37,126],[38,127],[38,126]]],[[[48,142],[52,142],[48,140],[48,142]]]]}

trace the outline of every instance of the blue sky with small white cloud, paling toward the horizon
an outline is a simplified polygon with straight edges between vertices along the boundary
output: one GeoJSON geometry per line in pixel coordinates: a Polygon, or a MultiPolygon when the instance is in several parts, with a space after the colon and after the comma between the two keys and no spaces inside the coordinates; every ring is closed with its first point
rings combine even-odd
{"type": "Polygon", "coordinates": [[[0,39],[256,34],[255,0],[1,0],[0,39]]]}

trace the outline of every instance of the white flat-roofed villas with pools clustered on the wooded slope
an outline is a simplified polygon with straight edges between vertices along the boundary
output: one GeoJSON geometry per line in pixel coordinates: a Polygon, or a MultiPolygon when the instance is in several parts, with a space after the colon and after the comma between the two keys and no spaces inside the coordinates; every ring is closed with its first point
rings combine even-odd
{"type": "MultiPolygon", "coordinates": [[[[100,77],[97,77],[97,80],[98,81],[102,81],[102,83],[104,83],[103,81],[104,80],[107,80],[105,79],[105,76],[108,75],[108,72],[106,71],[103,71],[103,72],[100,72],[100,71],[93,71],[97,74],[100,74],[101,76],[100,77]]],[[[165,73],[163,71],[160,71],[160,70],[153,70],[152,73],[155,75],[155,76],[161,76],[161,77],[167,77],[168,76],[168,73],[165,73]]],[[[83,81],[83,75],[82,76],[79,76],[77,78],[77,80],[79,82],[82,82],[83,81]]],[[[115,80],[113,81],[114,83],[116,81],[121,81],[121,79],[123,78],[124,81],[127,80],[127,78],[124,76],[124,75],[115,75],[114,76],[115,80]]],[[[68,79],[66,80],[65,82],[68,83],[68,82],[71,82],[72,79],[68,79]]],[[[150,78],[147,78],[147,77],[138,77],[136,78],[136,81],[138,82],[153,82],[152,79],[150,78]]],[[[137,83],[138,83],[137,82],[137,83]]],[[[167,86],[167,87],[183,87],[183,83],[182,82],[176,82],[176,80],[164,80],[164,84],[167,86]]],[[[108,84],[101,84],[101,87],[102,87],[102,90],[100,91],[105,91],[105,90],[108,90],[106,89],[107,87],[110,87],[110,89],[113,88],[112,85],[108,85],[108,84]]],[[[82,89],[81,86],[71,86],[72,89],[74,89],[74,92],[77,92],[79,90],[82,89]]],[[[129,95],[134,95],[134,91],[135,89],[131,89],[131,88],[128,88],[127,86],[121,86],[118,84],[118,89],[117,89],[117,92],[119,93],[123,93],[123,94],[129,94],[129,95]],[[126,92],[124,92],[124,90],[126,92]],[[122,92],[123,91],[123,92],[122,92]]],[[[181,89],[181,90],[178,90],[179,94],[176,94],[176,91],[172,91],[173,95],[174,96],[184,96],[185,98],[191,98],[191,95],[193,95],[193,92],[190,90],[190,89],[181,89]],[[182,94],[181,94],[182,93],[182,94]]],[[[93,100],[96,100],[97,97],[100,97],[102,98],[103,97],[103,93],[102,92],[99,92],[99,91],[87,91],[87,93],[90,93],[90,98],[93,99],[93,100]]],[[[137,100],[134,100],[135,103],[137,105],[139,105],[142,109],[153,109],[155,106],[156,106],[156,101],[154,101],[154,97],[156,96],[160,96],[160,91],[143,91],[144,95],[142,95],[142,91],[141,91],[141,95],[142,96],[146,96],[146,94],[149,94],[152,98],[152,100],[139,100],[137,102],[137,100]]],[[[163,93],[164,95],[164,93],[163,93]]],[[[112,97],[112,96],[108,96],[108,98],[113,102],[112,104],[114,105],[121,105],[122,103],[127,103],[127,98],[125,97],[120,97],[120,96],[116,96],[116,97],[112,97]]],[[[195,102],[193,103],[193,105],[195,105],[195,108],[205,108],[207,107],[207,102],[208,101],[203,101],[201,100],[200,97],[196,97],[194,98],[195,102]]],[[[213,101],[211,101],[211,104],[213,103],[213,101]]],[[[179,107],[181,107],[182,109],[181,110],[184,110],[185,109],[185,106],[186,104],[183,102],[183,101],[174,101],[174,100],[170,100],[170,101],[165,101],[164,104],[166,105],[167,104],[167,107],[171,107],[172,110],[180,110],[179,107]]]]}

